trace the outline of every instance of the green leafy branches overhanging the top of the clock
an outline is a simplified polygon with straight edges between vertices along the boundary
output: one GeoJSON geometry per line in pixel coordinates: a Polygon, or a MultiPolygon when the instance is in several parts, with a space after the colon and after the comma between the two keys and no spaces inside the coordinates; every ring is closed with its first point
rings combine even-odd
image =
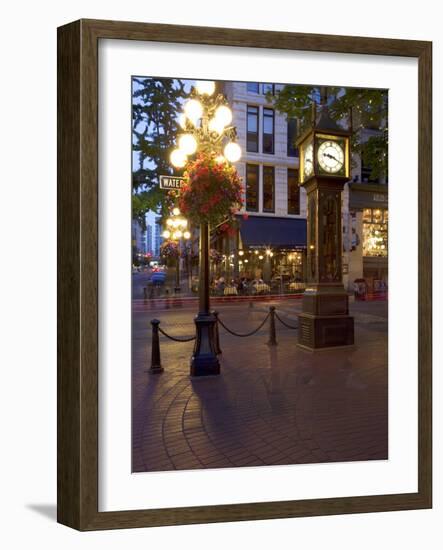
{"type": "Polygon", "coordinates": [[[327,105],[336,122],[346,119],[351,123],[352,152],[361,156],[371,167],[371,177],[387,176],[388,170],[388,91],[366,88],[337,88],[286,85],[275,95],[267,94],[268,101],[299,124],[299,134],[312,121],[312,105],[327,105]],[[363,137],[361,130],[373,130],[363,137]]]}

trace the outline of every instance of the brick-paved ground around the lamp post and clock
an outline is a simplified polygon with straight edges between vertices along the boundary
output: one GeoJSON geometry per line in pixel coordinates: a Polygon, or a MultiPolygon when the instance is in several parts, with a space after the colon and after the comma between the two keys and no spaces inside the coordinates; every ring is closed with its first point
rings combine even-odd
{"type": "MultiPolygon", "coordinates": [[[[269,304],[220,305],[239,332],[269,304]]],[[[296,324],[300,302],[278,302],[296,324]]],[[[150,319],[174,336],[193,334],[194,308],[133,314],[133,471],[222,468],[386,459],[388,454],[387,302],[351,304],[353,350],[312,354],[277,321],[236,338],[220,330],[221,375],[189,377],[193,343],[160,336],[164,372],[149,375],[150,319]]]]}

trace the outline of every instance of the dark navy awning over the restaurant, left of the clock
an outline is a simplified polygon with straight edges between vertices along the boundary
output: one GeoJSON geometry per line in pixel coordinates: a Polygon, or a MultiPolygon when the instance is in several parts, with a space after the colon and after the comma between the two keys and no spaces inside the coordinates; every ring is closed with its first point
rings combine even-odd
{"type": "Polygon", "coordinates": [[[244,247],[306,248],[305,219],[238,216],[238,220],[244,247]]]}

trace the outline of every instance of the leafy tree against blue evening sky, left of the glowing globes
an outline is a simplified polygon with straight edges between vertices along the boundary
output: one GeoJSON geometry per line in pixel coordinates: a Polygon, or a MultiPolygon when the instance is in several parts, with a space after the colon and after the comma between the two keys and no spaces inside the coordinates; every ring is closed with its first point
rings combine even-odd
{"type": "Polygon", "coordinates": [[[153,210],[165,215],[172,196],[160,189],[160,174],[174,174],[169,155],[180,130],[178,113],[188,97],[185,84],[172,78],[133,79],[132,133],[136,153],[132,175],[133,217],[143,226],[153,210]]]}

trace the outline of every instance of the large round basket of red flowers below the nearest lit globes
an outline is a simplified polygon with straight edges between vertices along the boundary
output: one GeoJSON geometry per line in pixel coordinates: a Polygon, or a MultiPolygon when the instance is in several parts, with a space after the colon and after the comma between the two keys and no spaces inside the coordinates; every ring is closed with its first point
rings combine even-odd
{"type": "Polygon", "coordinates": [[[242,206],[243,187],[237,170],[213,153],[202,153],[187,165],[180,193],[181,212],[195,225],[215,226],[234,220],[242,206]]]}

